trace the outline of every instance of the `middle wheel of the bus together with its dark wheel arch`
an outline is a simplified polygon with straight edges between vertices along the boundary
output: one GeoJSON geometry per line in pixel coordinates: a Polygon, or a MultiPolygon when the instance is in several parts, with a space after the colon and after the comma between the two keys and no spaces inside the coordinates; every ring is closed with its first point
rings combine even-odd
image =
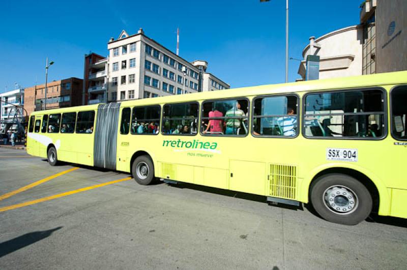
{"type": "Polygon", "coordinates": [[[140,185],[149,185],[155,180],[155,164],[151,155],[146,151],[137,151],[130,160],[130,173],[140,185]],[[148,175],[143,175],[146,173],[148,175]]]}

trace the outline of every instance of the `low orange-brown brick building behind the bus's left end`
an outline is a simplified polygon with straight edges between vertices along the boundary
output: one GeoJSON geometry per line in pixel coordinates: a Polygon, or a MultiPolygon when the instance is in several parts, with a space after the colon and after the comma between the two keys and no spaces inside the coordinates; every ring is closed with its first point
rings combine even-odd
{"type": "MultiPolygon", "coordinates": [[[[47,83],[46,109],[82,105],[83,80],[68,78],[47,83]]],[[[28,114],[45,107],[45,84],[27,87],[24,90],[24,108],[28,114]]]]}

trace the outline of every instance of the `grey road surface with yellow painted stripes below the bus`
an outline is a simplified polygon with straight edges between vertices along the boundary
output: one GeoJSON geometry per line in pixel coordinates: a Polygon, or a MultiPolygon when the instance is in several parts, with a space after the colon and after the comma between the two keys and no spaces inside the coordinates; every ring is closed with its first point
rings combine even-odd
{"type": "Polygon", "coordinates": [[[344,226],[261,196],[128,178],[0,148],[0,269],[407,267],[404,219],[344,226]]]}

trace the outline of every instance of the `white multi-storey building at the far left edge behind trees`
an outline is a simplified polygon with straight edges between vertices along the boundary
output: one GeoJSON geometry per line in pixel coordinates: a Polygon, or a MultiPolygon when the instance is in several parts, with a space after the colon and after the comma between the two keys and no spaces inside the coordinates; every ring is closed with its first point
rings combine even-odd
{"type": "MultiPolygon", "coordinates": [[[[16,114],[16,106],[24,106],[24,89],[15,89],[2,93],[0,94],[0,100],[0,119],[12,119],[14,118],[14,114],[16,114]]],[[[23,112],[19,110],[17,114],[19,116],[25,116],[22,115],[22,113],[23,112]]]]}

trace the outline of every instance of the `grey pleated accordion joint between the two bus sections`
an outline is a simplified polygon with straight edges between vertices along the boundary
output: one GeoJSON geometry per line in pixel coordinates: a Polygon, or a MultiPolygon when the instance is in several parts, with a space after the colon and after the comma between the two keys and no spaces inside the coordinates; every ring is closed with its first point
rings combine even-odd
{"type": "Polygon", "coordinates": [[[94,139],[94,165],[116,170],[120,103],[98,107],[94,139]]]}

